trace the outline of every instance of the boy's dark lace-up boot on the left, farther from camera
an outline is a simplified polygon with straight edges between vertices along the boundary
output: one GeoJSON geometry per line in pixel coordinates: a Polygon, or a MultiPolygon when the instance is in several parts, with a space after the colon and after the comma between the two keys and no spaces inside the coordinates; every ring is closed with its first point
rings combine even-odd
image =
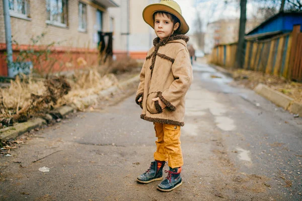
{"type": "Polygon", "coordinates": [[[163,179],[163,168],[165,161],[153,161],[145,173],[139,175],[136,180],[140,183],[150,183],[163,179]]]}

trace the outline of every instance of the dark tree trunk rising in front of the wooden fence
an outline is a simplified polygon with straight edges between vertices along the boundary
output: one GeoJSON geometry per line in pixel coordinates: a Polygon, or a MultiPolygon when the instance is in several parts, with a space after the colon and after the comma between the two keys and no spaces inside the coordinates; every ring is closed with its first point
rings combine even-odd
{"type": "Polygon", "coordinates": [[[244,45],[245,45],[245,27],[247,22],[247,0],[240,0],[240,25],[239,39],[236,53],[236,68],[243,68],[244,64],[244,45]]]}

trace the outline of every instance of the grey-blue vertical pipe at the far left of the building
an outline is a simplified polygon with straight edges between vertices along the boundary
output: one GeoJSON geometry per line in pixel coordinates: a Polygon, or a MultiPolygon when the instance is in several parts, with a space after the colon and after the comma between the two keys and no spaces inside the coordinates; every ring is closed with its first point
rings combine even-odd
{"type": "Polygon", "coordinates": [[[12,31],[11,31],[11,16],[9,1],[3,0],[3,13],[5,25],[5,39],[7,45],[7,63],[8,63],[8,77],[13,77],[11,66],[13,64],[13,48],[12,48],[12,31]]]}

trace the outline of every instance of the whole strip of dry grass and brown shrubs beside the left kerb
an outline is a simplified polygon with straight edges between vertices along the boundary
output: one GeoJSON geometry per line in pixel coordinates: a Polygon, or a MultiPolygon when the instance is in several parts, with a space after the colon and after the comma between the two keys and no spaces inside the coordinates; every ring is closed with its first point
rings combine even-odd
{"type": "Polygon", "coordinates": [[[0,89],[0,128],[65,104],[84,109],[84,105],[75,103],[117,83],[113,74],[101,76],[96,69],[77,71],[69,80],[64,77],[33,79],[31,76],[23,76],[21,80],[17,77],[9,88],[0,89]]]}

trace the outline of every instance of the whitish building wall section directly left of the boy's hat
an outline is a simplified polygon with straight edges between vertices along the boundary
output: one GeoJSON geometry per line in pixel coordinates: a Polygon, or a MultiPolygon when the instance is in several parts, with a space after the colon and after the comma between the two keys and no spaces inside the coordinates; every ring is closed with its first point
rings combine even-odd
{"type": "Polygon", "coordinates": [[[126,55],[127,50],[129,50],[132,58],[143,59],[146,56],[146,52],[153,46],[153,39],[156,37],[156,34],[154,29],[149,27],[142,19],[142,11],[147,5],[160,1],[140,0],[139,4],[137,4],[137,0],[128,1],[129,16],[127,0],[116,0],[119,8],[108,9],[109,17],[114,18],[115,22],[113,37],[114,54],[119,57],[122,54],[126,55]],[[129,36],[125,35],[128,32],[128,26],[129,36]]]}

